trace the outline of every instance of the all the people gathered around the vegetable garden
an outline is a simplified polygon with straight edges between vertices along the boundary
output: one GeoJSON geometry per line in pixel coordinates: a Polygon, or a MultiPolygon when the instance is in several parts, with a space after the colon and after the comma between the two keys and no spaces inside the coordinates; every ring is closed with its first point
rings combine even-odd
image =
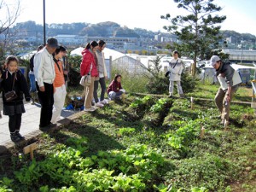
{"type": "MultiPolygon", "coordinates": [[[[105,100],[107,91],[108,98],[124,99],[125,90],[121,85],[121,75],[116,74],[113,81],[106,86],[108,78],[103,49],[106,43],[103,40],[92,41],[82,51],[80,75],[90,75],[90,84],[84,86],[84,111],[95,111],[108,104],[105,100]],[[98,98],[98,85],[101,85],[101,94],[98,98]],[[93,106],[94,103],[94,106],[93,106]]],[[[168,73],[170,79],[169,93],[173,96],[173,85],[177,82],[177,92],[183,97],[181,75],[185,68],[183,61],[178,58],[178,52],[173,52],[173,59],[169,62],[168,73]]],[[[30,64],[30,84],[28,85],[23,73],[18,69],[19,60],[14,55],[6,58],[4,66],[0,68],[0,88],[3,90],[3,114],[9,115],[9,131],[13,142],[19,142],[24,137],[20,135],[21,115],[25,113],[23,100],[34,102],[37,96],[41,104],[39,129],[48,131],[56,126],[61,117],[61,109],[64,107],[67,96],[67,49],[58,44],[57,39],[49,38],[45,46],[39,46],[38,52],[32,56],[30,64]],[[65,59],[66,58],[66,59],[65,59]]],[[[230,63],[221,61],[217,55],[211,58],[212,67],[216,69],[216,76],[221,84],[215,96],[215,103],[220,112],[221,123],[229,121],[230,101],[238,89],[241,79],[236,75],[230,63]],[[238,79],[238,80],[237,80],[238,79]]],[[[0,103],[0,118],[2,104],[0,103]]]]}

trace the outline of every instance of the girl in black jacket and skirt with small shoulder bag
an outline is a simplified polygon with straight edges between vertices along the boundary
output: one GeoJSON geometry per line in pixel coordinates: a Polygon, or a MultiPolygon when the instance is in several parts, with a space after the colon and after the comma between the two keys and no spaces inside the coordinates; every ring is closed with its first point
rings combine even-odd
{"type": "Polygon", "coordinates": [[[2,89],[3,89],[3,114],[9,115],[9,131],[11,140],[14,143],[25,139],[20,135],[21,115],[25,113],[23,94],[26,102],[29,102],[28,86],[24,75],[18,70],[19,60],[13,55],[6,58],[6,70],[2,74],[2,89]],[[15,81],[15,82],[14,82],[15,81]],[[7,101],[5,94],[15,90],[17,97],[14,100],[7,101]]]}

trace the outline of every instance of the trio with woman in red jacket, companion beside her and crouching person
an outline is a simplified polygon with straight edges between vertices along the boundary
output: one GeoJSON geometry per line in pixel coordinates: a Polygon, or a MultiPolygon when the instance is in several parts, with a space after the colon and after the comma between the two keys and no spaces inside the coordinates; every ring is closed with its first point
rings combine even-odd
{"type": "MultiPolygon", "coordinates": [[[[105,57],[103,49],[106,43],[103,40],[99,42],[92,41],[85,46],[82,51],[82,62],[80,65],[81,76],[90,75],[91,83],[84,87],[84,111],[95,111],[96,107],[104,107],[108,104],[105,100],[106,82],[108,79],[107,69],[105,65],[105,57]],[[101,85],[100,100],[97,96],[98,85],[101,85]],[[95,106],[92,106],[94,100],[95,106]]],[[[116,74],[113,81],[108,85],[108,98],[114,100],[116,98],[125,97],[125,90],[121,85],[121,75],[116,74]]]]}

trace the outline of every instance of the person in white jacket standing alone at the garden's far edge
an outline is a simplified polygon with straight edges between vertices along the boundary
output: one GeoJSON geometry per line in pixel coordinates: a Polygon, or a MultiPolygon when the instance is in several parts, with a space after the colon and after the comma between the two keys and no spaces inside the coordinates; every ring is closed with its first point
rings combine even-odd
{"type": "Polygon", "coordinates": [[[177,93],[180,97],[183,97],[183,88],[181,86],[181,74],[183,73],[184,69],[184,64],[183,61],[178,58],[178,52],[177,50],[173,51],[173,59],[169,61],[169,80],[170,80],[170,85],[169,85],[169,97],[173,96],[173,86],[174,82],[177,83],[177,93]]]}

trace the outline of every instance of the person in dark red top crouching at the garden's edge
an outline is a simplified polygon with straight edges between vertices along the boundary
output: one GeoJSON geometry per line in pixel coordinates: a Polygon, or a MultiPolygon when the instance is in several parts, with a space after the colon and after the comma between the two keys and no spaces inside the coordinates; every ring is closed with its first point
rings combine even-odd
{"type": "Polygon", "coordinates": [[[110,100],[114,100],[116,98],[125,99],[125,90],[122,88],[121,85],[121,78],[120,74],[116,74],[113,81],[108,85],[108,97],[110,100]]]}

